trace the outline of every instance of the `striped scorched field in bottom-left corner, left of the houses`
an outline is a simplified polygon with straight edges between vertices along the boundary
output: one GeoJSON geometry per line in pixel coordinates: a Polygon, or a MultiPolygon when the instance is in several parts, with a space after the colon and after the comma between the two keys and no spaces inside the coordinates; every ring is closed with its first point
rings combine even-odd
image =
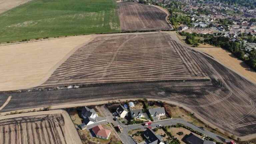
{"type": "Polygon", "coordinates": [[[0,144],[67,144],[61,114],[0,120],[0,144]]]}

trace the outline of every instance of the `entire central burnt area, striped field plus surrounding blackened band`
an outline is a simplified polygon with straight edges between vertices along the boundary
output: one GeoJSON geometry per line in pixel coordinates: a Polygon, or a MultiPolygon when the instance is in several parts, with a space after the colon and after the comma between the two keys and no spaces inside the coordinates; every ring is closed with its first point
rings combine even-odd
{"type": "Polygon", "coordinates": [[[78,76],[79,81],[77,83],[84,84],[95,81],[99,84],[65,90],[22,93],[2,92],[0,93],[0,105],[6,101],[8,96],[11,95],[12,99],[1,111],[46,105],[118,100],[119,98],[155,98],[184,105],[208,122],[237,136],[255,133],[256,86],[253,83],[227,69],[209,56],[177,44],[167,33],[144,33],[135,37],[136,34],[119,35],[118,38],[124,39],[121,43],[128,40],[125,44],[120,44],[120,41],[116,43],[116,45],[123,46],[119,50],[114,46],[105,46],[105,44],[115,43],[115,41],[111,41],[117,39],[113,35],[108,39],[105,36],[96,37],[94,42],[88,44],[90,46],[78,49],[67,59],[44,85],[55,86],[68,84],[69,82],[73,83],[76,79],[74,77],[72,79],[71,75],[78,76]],[[151,39],[151,35],[154,38],[151,39]],[[145,38],[143,39],[143,37],[145,38]],[[150,40],[146,41],[146,39],[150,40]],[[151,44],[150,41],[153,41],[156,45],[151,44]],[[102,45],[103,47],[101,47],[102,45]],[[127,49],[122,49],[125,47],[127,49]],[[142,52],[143,50],[145,52],[142,52]],[[118,53],[116,53],[117,51],[118,53]],[[133,53],[133,55],[130,53],[133,53]],[[187,56],[182,55],[182,53],[186,53],[187,56]],[[138,55],[136,56],[136,54],[138,55]],[[113,57],[113,55],[116,56],[113,57]],[[170,57],[173,57],[173,59],[170,57]],[[137,65],[139,58],[141,60],[137,65]],[[93,60],[104,61],[104,59],[106,59],[105,62],[99,63],[99,65],[94,64],[94,69],[90,67],[90,70],[88,70],[89,66],[86,64],[89,60],[93,62],[93,60]],[[72,70],[72,62],[76,63],[73,66],[74,70],[72,70]],[[129,62],[130,68],[127,68],[126,64],[128,63],[122,62],[129,62]],[[80,63],[82,64],[80,65],[80,63]],[[150,64],[150,68],[143,67],[145,63],[150,64]],[[181,72],[172,73],[168,70],[168,68],[174,68],[175,63],[180,67],[181,72]],[[138,66],[138,69],[135,71],[136,66],[138,66]],[[140,71],[139,68],[141,67],[146,71],[140,71]],[[122,75],[133,82],[106,83],[109,82],[109,79],[118,79],[117,82],[120,82],[121,76],[118,75],[120,68],[128,69],[128,72],[124,71],[122,75]],[[162,71],[162,69],[165,70],[162,71]],[[66,70],[72,71],[65,72],[66,70]],[[132,74],[129,74],[130,71],[135,74],[132,76],[132,74]],[[183,78],[176,79],[174,78],[176,75],[183,75],[183,78]],[[155,81],[162,80],[157,79],[158,76],[167,79],[167,81],[155,81]],[[146,77],[150,78],[151,81],[146,81],[144,79],[146,77]],[[195,79],[189,79],[190,77],[195,79]],[[204,79],[201,79],[202,77],[204,79]],[[205,80],[205,78],[210,78],[210,80],[205,80]],[[82,81],[80,81],[81,79],[82,81]],[[102,83],[105,84],[102,85],[102,83]]]}

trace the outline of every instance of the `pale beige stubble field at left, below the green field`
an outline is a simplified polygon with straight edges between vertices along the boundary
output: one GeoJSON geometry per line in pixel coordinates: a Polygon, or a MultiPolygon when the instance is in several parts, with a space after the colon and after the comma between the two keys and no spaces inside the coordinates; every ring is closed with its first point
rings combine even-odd
{"type": "Polygon", "coordinates": [[[0,91],[25,89],[45,82],[90,36],[0,46],[0,91]],[[70,54],[69,54],[70,53],[70,54]]]}

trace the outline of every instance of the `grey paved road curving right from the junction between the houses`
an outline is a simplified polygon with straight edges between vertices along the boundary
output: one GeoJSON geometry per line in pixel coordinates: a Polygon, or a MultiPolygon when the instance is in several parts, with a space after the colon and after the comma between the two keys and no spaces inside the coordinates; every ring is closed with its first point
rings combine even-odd
{"type": "MultiPolygon", "coordinates": [[[[221,136],[215,134],[215,133],[212,133],[208,130],[205,130],[205,129],[200,129],[199,127],[187,122],[187,121],[184,121],[183,119],[168,119],[168,120],[161,120],[161,121],[157,121],[157,122],[153,122],[152,123],[152,129],[153,128],[156,128],[157,125],[162,125],[162,126],[169,126],[169,125],[175,125],[177,123],[180,123],[180,124],[183,124],[185,126],[188,126],[200,133],[203,133],[204,135],[206,136],[209,136],[217,141],[220,141],[220,142],[225,142],[225,138],[222,138],[221,136]]],[[[142,126],[141,124],[136,124],[136,125],[129,125],[129,126],[126,126],[126,125],[123,125],[123,131],[128,131],[129,130],[132,130],[132,129],[142,129],[142,130],[146,130],[147,126],[142,126]]]]}

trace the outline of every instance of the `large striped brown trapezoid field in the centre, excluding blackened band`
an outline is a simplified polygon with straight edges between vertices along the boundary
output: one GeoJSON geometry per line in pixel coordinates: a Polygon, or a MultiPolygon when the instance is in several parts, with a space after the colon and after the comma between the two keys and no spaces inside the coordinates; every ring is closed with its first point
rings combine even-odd
{"type": "Polygon", "coordinates": [[[209,79],[193,54],[166,33],[98,36],[41,86],[209,79]]]}

